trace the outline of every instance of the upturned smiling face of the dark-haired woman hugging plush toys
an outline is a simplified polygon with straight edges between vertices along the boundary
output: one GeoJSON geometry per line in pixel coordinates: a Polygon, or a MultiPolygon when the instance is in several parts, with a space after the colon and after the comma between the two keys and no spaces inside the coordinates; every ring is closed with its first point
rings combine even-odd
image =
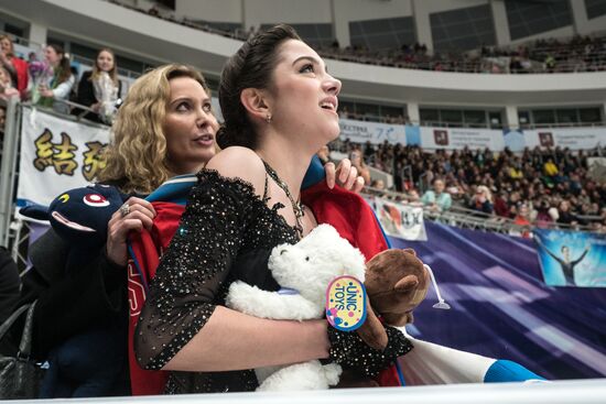
{"type": "Polygon", "coordinates": [[[314,143],[317,137],[322,144],[336,139],[340,81],[326,72],[317,53],[301,41],[282,43],[278,61],[269,90],[273,124],[282,127],[283,133],[315,139],[314,143]]]}

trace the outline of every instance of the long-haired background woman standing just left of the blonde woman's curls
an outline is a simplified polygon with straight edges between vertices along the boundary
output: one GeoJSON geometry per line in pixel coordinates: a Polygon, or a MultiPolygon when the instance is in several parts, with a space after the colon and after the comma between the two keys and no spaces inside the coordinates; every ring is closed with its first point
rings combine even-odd
{"type": "MultiPolygon", "coordinates": [[[[118,66],[113,51],[102,48],[97,54],[93,70],[85,72],[78,84],[76,102],[89,107],[97,113],[84,118],[94,122],[111,123],[116,114],[116,102],[121,97],[122,84],[118,79],[118,66]]],[[[82,110],[76,109],[74,114],[82,110]]]]}

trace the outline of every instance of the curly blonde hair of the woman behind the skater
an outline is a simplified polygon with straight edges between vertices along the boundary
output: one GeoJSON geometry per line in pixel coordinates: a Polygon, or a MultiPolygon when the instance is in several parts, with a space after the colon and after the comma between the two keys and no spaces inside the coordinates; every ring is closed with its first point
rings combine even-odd
{"type": "Polygon", "coordinates": [[[171,97],[169,81],[176,77],[193,78],[210,96],[202,74],[186,65],[160,66],[137,79],[113,121],[100,182],[118,182],[125,193],[150,194],[171,177],[162,125],[171,97]]]}

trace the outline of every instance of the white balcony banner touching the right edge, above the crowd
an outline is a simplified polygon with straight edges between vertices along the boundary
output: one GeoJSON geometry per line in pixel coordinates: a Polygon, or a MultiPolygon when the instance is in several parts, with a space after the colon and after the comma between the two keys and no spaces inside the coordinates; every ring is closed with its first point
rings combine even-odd
{"type": "Polygon", "coordinates": [[[527,148],[569,148],[571,150],[606,146],[606,128],[548,128],[524,130],[527,148]]]}

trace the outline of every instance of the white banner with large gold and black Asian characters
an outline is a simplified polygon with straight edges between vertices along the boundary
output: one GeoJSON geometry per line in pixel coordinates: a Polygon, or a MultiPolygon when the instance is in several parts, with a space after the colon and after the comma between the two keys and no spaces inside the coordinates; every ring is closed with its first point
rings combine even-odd
{"type": "Polygon", "coordinates": [[[18,205],[48,205],[64,190],[85,186],[104,166],[109,129],[23,108],[18,205]]]}

